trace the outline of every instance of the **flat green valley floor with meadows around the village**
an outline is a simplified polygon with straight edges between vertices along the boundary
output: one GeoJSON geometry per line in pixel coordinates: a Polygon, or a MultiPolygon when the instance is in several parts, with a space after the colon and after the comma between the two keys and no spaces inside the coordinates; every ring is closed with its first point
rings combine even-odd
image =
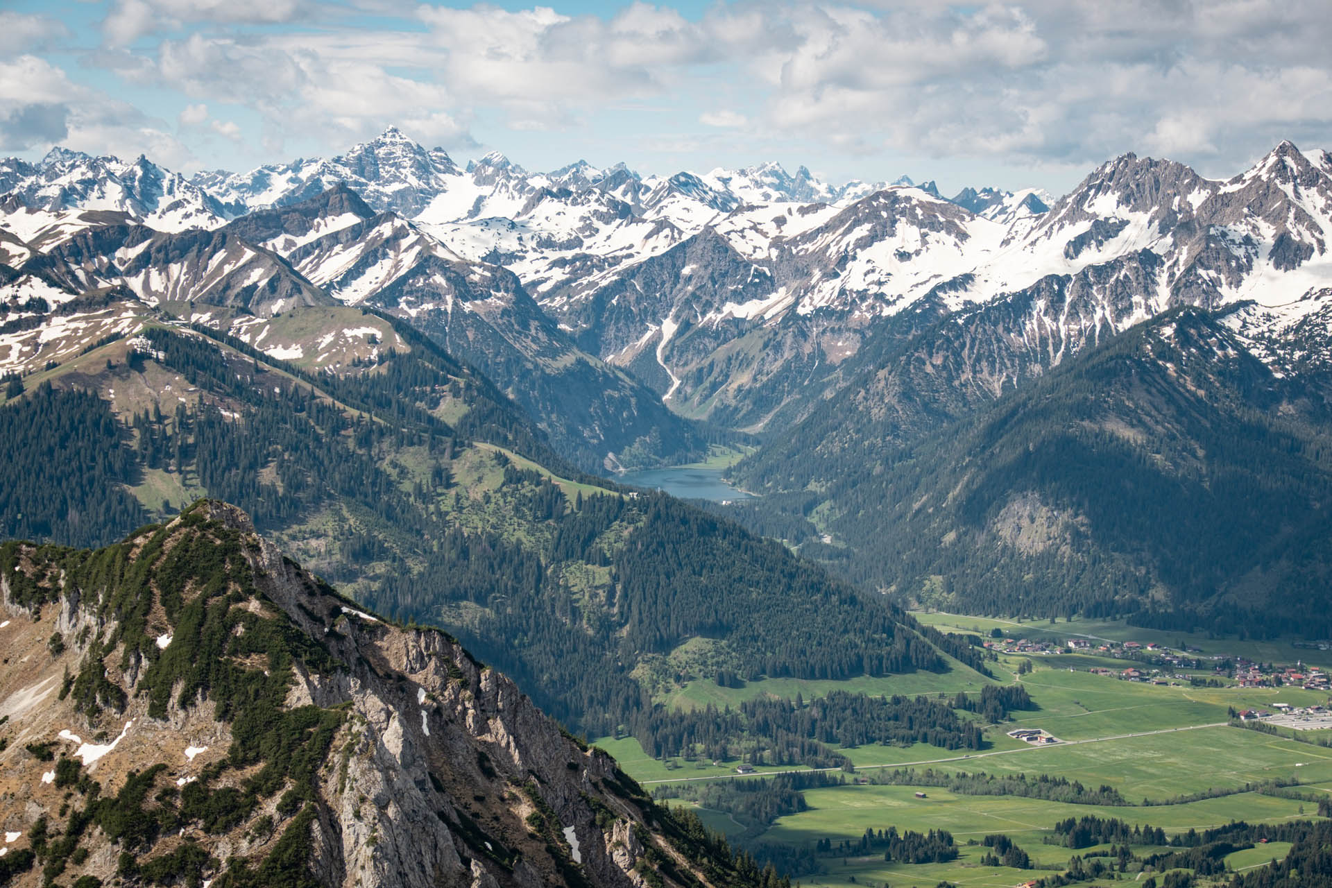
{"type": "MultiPolygon", "coordinates": [[[[1098,644],[1102,640],[1119,644],[1136,640],[1143,646],[1155,643],[1176,650],[1187,647],[1192,656],[1207,660],[1207,666],[1211,666],[1209,658],[1213,656],[1220,658],[1217,662],[1237,658],[1279,664],[1299,662],[1301,668],[1332,663],[1328,651],[1296,648],[1289,642],[1181,636],[1177,632],[1136,630],[1111,620],[1019,624],[936,612],[916,614],[916,618],[943,631],[966,631],[986,638],[999,627],[1032,640],[1058,640],[1060,646],[1068,638],[1087,638],[1098,644]]],[[[1010,888],[1058,875],[1074,853],[1086,856],[1108,848],[1096,845],[1075,852],[1062,845],[1044,844],[1046,839],[1054,836],[1055,823],[1067,817],[1118,817],[1134,825],[1158,827],[1167,836],[1173,836],[1233,820],[1279,823],[1307,819],[1315,816],[1317,797],[1332,796],[1332,748],[1320,746],[1328,732],[1268,728],[1279,731],[1268,734],[1231,723],[1232,711],[1275,711],[1276,703],[1292,707],[1327,704],[1327,691],[1240,687],[1232,680],[1212,678],[1211,668],[1183,670],[1177,675],[1159,678],[1163,682],[1159,684],[1123,680],[1122,671],[1142,666],[1142,662],[1127,659],[1122,647],[1116,650],[1120,659],[1106,652],[999,654],[991,668],[1000,676],[1000,682],[1022,682],[1039,708],[1014,712],[1011,720],[987,727],[988,748],[947,751],[914,744],[839,750],[854,762],[855,774],[842,775],[842,785],[805,789],[807,809],[778,817],[766,829],[763,824],[747,823],[743,815],[709,809],[697,803],[691,807],[711,828],[749,843],[813,851],[821,840],[829,840],[836,848],[842,841],[858,841],[866,829],[896,827],[899,832],[947,829],[959,848],[956,860],[942,864],[884,863],[882,849],[844,855],[822,852],[817,856],[819,872],[799,876],[806,885],[926,887],[948,881],[976,888],[1010,888]],[[1019,675],[1019,670],[1026,670],[1027,662],[1031,663],[1030,672],[1019,675]],[[1108,668],[1102,663],[1118,668],[1108,675],[1088,671],[1108,668]],[[1179,678],[1187,675],[1220,686],[1200,687],[1196,682],[1179,678]],[[1060,742],[1030,746],[1008,735],[1019,728],[1043,728],[1060,742]],[[932,770],[936,775],[932,781],[918,777],[918,783],[912,783],[912,776],[894,774],[899,770],[910,770],[915,775],[932,770]],[[1118,789],[1128,804],[1090,805],[1012,795],[967,795],[938,785],[938,774],[978,772],[996,776],[1026,775],[1028,779],[1050,775],[1076,780],[1088,788],[1108,785],[1118,789]],[[1273,788],[1276,783],[1299,785],[1280,789],[1273,788]],[[1245,787],[1251,788],[1245,791],[1245,787]],[[919,792],[924,792],[924,797],[919,797],[919,792]],[[1205,797],[1216,792],[1224,795],[1205,797]],[[1150,804],[1143,804],[1144,801],[1150,804]],[[1034,867],[1042,868],[982,865],[980,859],[990,848],[979,843],[992,833],[1006,833],[1031,855],[1034,867]]],[[[974,691],[978,678],[970,670],[954,670],[926,680],[920,676],[903,676],[860,679],[840,686],[871,694],[888,692],[894,690],[892,686],[896,686],[896,692],[951,694],[974,691]]],[[[794,696],[797,690],[809,699],[811,691],[827,692],[830,688],[813,688],[803,683],[801,687],[785,687],[759,682],[746,688],[745,696],[757,692],[794,696]],[[759,690],[759,686],[763,687],[759,690]]],[[[733,694],[737,691],[731,688],[714,687],[707,692],[703,687],[691,686],[675,695],[671,703],[686,708],[703,702],[734,703],[733,694]]],[[[751,779],[735,772],[737,763],[649,759],[631,738],[598,743],[614,752],[623,767],[649,788],[751,779]]],[[[783,771],[793,772],[791,768],[757,768],[758,774],[783,771]]],[[[835,770],[829,771],[836,774],[835,770]]],[[[1241,871],[1279,859],[1287,849],[1288,845],[1283,843],[1257,845],[1233,852],[1227,856],[1225,863],[1231,869],[1241,871]]],[[[1134,852],[1139,855],[1152,851],[1159,848],[1134,847],[1134,852]]],[[[1132,871],[1119,877],[1146,879],[1132,871]]],[[[1099,881],[1104,881],[1104,877],[1099,881]]]]}

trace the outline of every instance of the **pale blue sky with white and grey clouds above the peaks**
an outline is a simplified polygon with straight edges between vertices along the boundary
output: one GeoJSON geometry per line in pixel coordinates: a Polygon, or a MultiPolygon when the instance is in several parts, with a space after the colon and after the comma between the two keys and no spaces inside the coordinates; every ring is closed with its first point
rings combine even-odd
{"type": "Polygon", "coordinates": [[[1332,148],[1328,45],[1324,0],[0,0],[0,154],[242,170],[396,125],[530,170],[1058,194],[1130,150],[1332,148]]]}

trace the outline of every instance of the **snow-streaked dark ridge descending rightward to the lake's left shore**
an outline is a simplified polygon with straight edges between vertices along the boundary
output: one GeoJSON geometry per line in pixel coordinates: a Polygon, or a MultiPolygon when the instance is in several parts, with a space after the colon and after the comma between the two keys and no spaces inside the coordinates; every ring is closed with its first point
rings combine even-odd
{"type": "MultiPolygon", "coordinates": [[[[553,446],[606,471],[706,454],[702,431],[626,373],[581,351],[507,269],[464,261],[396,213],[370,213],[345,188],[230,222],[334,298],[386,310],[481,367],[553,446]]],[[[262,325],[248,321],[257,342],[262,325]]]]}

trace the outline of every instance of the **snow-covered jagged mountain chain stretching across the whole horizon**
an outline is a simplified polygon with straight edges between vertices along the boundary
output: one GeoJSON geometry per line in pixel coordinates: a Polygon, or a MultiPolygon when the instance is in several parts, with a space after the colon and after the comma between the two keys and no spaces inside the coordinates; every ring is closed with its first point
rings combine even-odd
{"type": "Polygon", "coordinates": [[[1324,355],[1332,321],[1332,157],[1289,142],[1225,181],[1124,154],[1059,200],[834,186],[778,164],[533,173],[493,152],[460,168],[396,129],[190,180],[57,149],[0,161],[0,189],[7,322],[117,286],[260,318],[377,305],[478,361],[599,358],[673,410],[746,427],[797,381],[835,385],[900,317],[1007,306],[1004,335],[1028,354],[996,362],[992,386],[1181,305],[1236,309],[1227,322],[1281,371],[1324,355]]]}

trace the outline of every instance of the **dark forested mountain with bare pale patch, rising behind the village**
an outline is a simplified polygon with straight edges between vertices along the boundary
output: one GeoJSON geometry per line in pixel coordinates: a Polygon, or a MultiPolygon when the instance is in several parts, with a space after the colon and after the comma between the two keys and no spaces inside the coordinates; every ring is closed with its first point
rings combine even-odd
{"type": "Polygon", "coordinates": [[[942,431],[839,466],[834,443],[817,499],[848,549],[819,551],[944,607],[1323,638],[1329,394],[1275,375],[1221,320],[1172,312],[942,431]]]}

